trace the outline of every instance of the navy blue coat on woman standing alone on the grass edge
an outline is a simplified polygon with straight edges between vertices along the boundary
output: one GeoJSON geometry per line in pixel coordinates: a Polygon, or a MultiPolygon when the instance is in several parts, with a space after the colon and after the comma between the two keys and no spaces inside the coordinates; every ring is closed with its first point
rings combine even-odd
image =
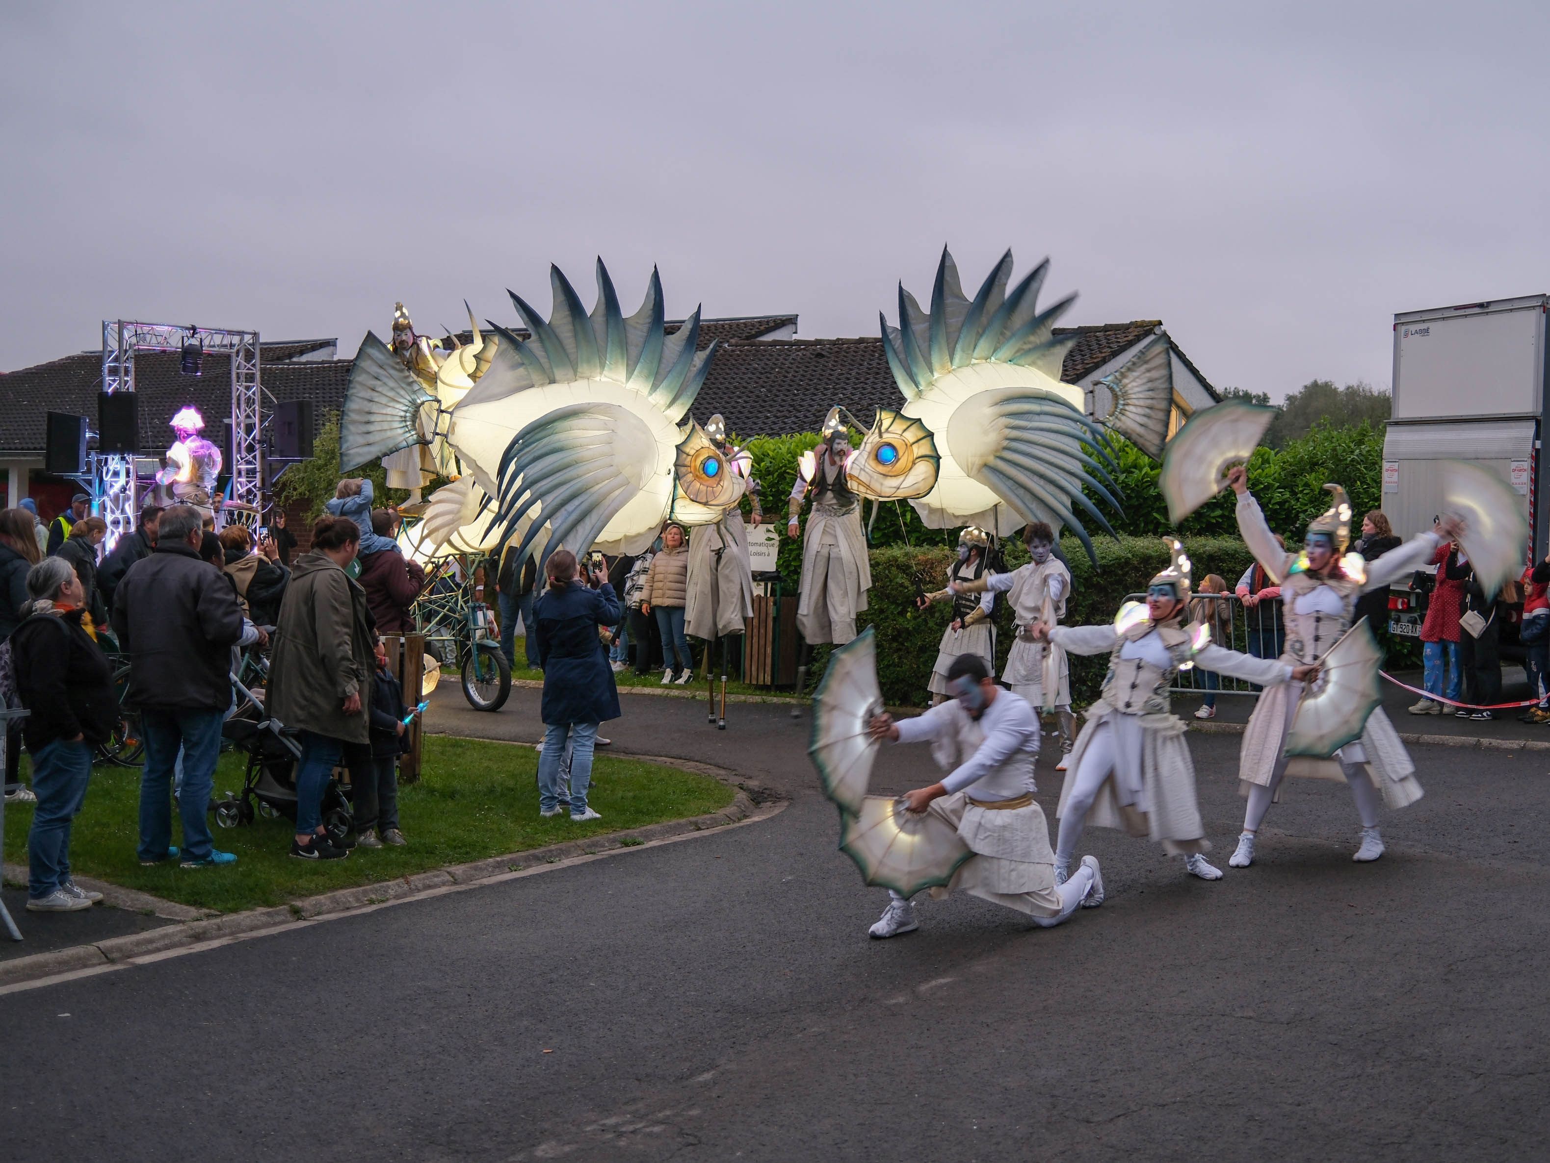
{"type": "Polygon", "coordinates": [[[544,587],[533,602],[538,664],[544,667],[542,719],[550,725],[604,723],[618,719],[618,689],[598,626],[618,624],[618,599],[603,582],[587,588],[574,581],[564,590],[544,587]]]}

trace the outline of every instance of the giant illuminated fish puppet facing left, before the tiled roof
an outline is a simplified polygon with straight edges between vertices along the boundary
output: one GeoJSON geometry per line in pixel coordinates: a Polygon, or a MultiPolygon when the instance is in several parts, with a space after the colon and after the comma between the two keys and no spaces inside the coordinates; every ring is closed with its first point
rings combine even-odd
{"type": "Polygon", "coordinates": [[[930,313],[899,285],[899,327],[882,316],[882,338],[905,403],[877,409],[846,466],[854,491],[908,499],[928,528],[1006,536],[1034,520],[1070,527],[1090,556],[1079,513],[1113,533],[1083,488],[1119,511],[1107,432],[1161,457],[1173,404],[1169,344],[1158,336],[1099,381],[1111,407],[1090,418],[1083,390],[1060,381],[1077,336],[1054,334],[1076,296],[1038,310],[1048,269],[1046,259],[1008,290],[1008,251],[969,299],[944,248],[930,313]]]}

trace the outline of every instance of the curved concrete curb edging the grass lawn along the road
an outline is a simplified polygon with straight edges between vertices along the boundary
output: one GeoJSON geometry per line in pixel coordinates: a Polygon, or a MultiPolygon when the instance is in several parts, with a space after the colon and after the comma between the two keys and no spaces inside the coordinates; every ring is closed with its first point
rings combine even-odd
{"type": "MultiPolygon", "coordinates": [[[[512,880],[516,875],[533,875],[547,872],[575,861],[597,859],[598,856],[615,855],[637,847],[666,844],[702,832],[727,827],[732,824],[755,822],[767,819],[786,807],[786,801],[777,798],[763,785],[752,780],[741,780],[735,771],[698,763],[687,759],[668,759],[662,756],[631,756],[648,762],[679,767],[685,771],[698,771],[711,776],[738,788],[732,804],[721,811],[690,819],[670,819],[660,824],[614,832],[606,836],[591,836],[587,839],[564,841],[542,849],[513,852],[507,856],[488,856],[468,864],[453,864],[445,869],[431,869],[412,877],[401,877],[375,884],[358,884],[350,889],[336,889],[316,897],[307,897],[291,904],[271,909],[250,909],[211,915],[188,906],[160,901],[161,904],[198,914],[197,920],[184,918],[180,925],[166,925],[160,929],[133,932],[126,937],[110,937],[95,945],[76,945],[67,949],[17,957],[0,962],[0,994],[12,993],[31,983],[42,983],[50,979],[65,979],[101,973],[110,968],[122,968],[143,960],[155,960],[169,952],[189,949],[191,946],[211,942],[223,943],[237,937],[257,937],[265,932],[279,931],[298,923],[313,923],[322,918],[343,917],[350,912],[377,909],[384,904],[401,903],[426,895],[474,887],[484,881],[512,880]],[[764,807],[760,807],[760,802],[764,807]]],[[[25,870],[23,870],[25,877],[25,870]]],[[[85,878],[81,884],[87,884],[85,878]]],[[[112,887],[91,881],[99,890],[112,887]]],[[[116,889],[116,892],[130,892],[116,889]]],[[[133,894],[146,900],[158,901],[157,897],[133,894]]],[[[161,914],[158,914],[161,915],[161,914]]]]}

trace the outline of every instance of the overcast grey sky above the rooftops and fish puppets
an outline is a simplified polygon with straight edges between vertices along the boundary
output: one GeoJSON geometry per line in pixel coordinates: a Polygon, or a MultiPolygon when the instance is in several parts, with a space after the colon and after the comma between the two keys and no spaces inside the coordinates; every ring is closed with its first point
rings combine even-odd
{"type": "Polygon", "coordinates": [[[395,299],[876,334],[1043,256],[1274,398],[1400,310],[1550,290],[1544,3],[6,3],[0,369],[98,321],[386,334],[395,299]]]}

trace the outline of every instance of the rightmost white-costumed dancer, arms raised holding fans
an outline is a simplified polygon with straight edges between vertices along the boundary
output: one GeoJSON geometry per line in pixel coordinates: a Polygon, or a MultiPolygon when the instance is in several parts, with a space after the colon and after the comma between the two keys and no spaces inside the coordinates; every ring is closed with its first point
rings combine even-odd
{"type": "MultiPolygon", "coordinates": [[[[1228,474],[1228,483],[1238,494],[1238,533],[1243,542],[1280,584],[1286,624],[1282,660],[1291,664],[1319,661],[1352,624],[1352,610],[1362,593],[1387,588],[1393,579],[1429,564],[1442,540],[1457,536],[1463,528],[1455,517],[1445,516],[1437,531],[1412,537],[1370,565],[1355,554],[1342,559],[1350,544],[1352,506],[1345,489],[1325,485],[1335,494],[1335,503],[1308,525],[1302,553],[1286,553],[1265,523],[1265,514],[1249,492],[1248,472],[1242,465],[1228,474]]],[[[1383,855],[1380,807],[1387,804],[1398,808],[1421,798],[1415,765],[1381,706],[1367,719],[1358,742],[1347,743],[1328,759],[1288,760],[1286,732],[1297,715],[1300,695],[1302,683],[1268,689],[1249,717],[1238,759],[1240,787],[1249,802],[1237,852],[1228,861],[1235,869],[1246,869],[1254,863],[1256,835],[1286,774],[1344,777],[1350,784],[1361,816],[1361,847],[1352,859],[1361,863],[1383,855]]]]}

